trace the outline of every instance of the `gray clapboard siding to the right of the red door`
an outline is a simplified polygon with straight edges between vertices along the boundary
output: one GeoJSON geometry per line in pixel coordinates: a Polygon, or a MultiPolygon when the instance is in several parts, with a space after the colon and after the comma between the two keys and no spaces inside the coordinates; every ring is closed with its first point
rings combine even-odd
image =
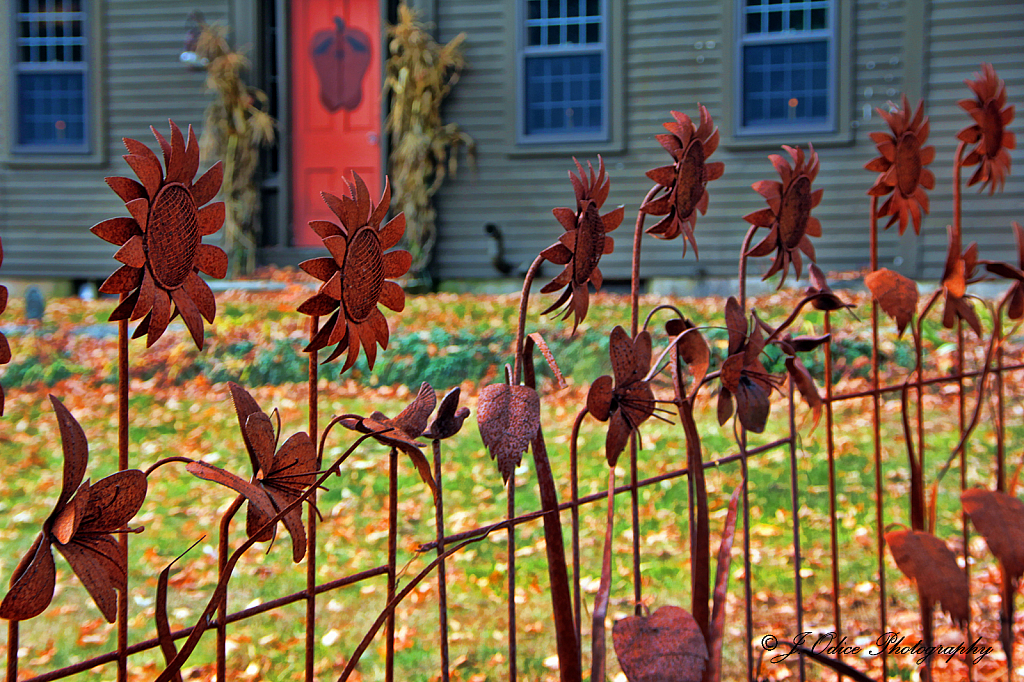
{"type": "MultiPolygon", "coordinates": [[[[570,154],[509,153],[511,133],[505,127],[504,112],[514,110],[517,102],[514,75],[505,72],[515,41],[514,28],[507,23],[506,5],[501,0],[438,3],[439,39],[450,40],[463,31],[468,35],[468,67],[445,115],[472,134],[478,144],[477,172],[461,166],[458,177],[450,178],[438,196],[440,239],[435,269],[442,279],[497,275],[488,260],[483,233],[486,222],[502,226],[510,261],[528,263],[561,233],[551,208],[572,201],[566,176],[573,168],[570,154]]],[[[654,134],[662,132],[662,123],[669,120],[669,112],[678,110],[695,117],[696,104],[701,102],[720,127],[728,125],[721,88],[728,82],[724,51],[732,48],[732,41],[724,35],[722,16],[724,11],[731,11],[731,6],[728,2],[709,4],[696,0],[626,3],[622,91],[626,101],[626,151],[605,155],[611,176],[606,207],[625,204],[626,219],[612,233],[615,252],[601,262],[606,280],[629,278],[636,210],[650,188],[644,172],[669,163],[668,155],[654,139],[654,134]],[[695,48],[698,41],[709,40],[715,42],[713,49],[695,48]],[[699,65],[698,55],[703,57],[699,65]]],[[[815,215],[823,224],[824,237],[813,241],[818,262],[826,269],[860,269],[868,265],[866,191],[874,174],[863,166],[878,155],[867,133],[887,129],[874,108],[890,100],[898,102],[905,83],[916,83],[927,98],[929,142],[937,151],[931,166],[937,176],[937,186],[930,194],[932,213],[925,217],[921,237],[914,237],[908,228],[901,238],[896,226],[882,231],[880,262],[913,276],[936,278],[945,260],[945,225],[951,221],[954,136],[970,124],[970,118],[956,105],[956,100],[971,96],[964,79],[978,71],[982,61],[990,61],[1006,79],[1011,100],[1024,101],[1024,55],[1020,47],[1024,4],[1018,0],[933,0],[925,11],[927,38],[923,54],[905,53],[908,46],[915,44],[905,38],[906,34],[919,31],[907,26],[908,15],[913,14],[904,2],[898,1],[859,0],[853,9],[852,63],[843,77],[852,88],[851,116],[857,126],[854,142],[817,147],[821,172],[816,186],[823,187],[825,194],[815,215]],[[904,73],[908,61],[921,65],[924,81],[921,73],[904,73]]],[[[1020,125],[1024,108],[1019,104],[1018,109],[1021,111],[1014,128],[1018,135],[1024,135],[1020,125]]],[[[708,215],[697,220],[700,259],[695,260],[691,251],[682,259],[679,241],[645,237],[642,263],[648,276],[735,276],[739,245],[748,227],[741,218],[765,205],[751,189],[751,183],[773,178],[767,156],[781,154],[780,144],[806,147],[799,137],[768,142],[764,148],[754,151],[726,144],[719,147],[713,161],[725,162],[726,173],[710,185],[708,215]]],[[[596,164],[595,155],[586,158],[596,164]]],[[[1022,164],[1018,161],[1018,166],[1022,164]]],[[[1022,171],[1015,170],[1018,174],[1008,177],[1001,195],[990,198],[985,193],[979,197],[973,188],[964,193],[966,239],[979,240],[989,257],[1000,257],[1000,249],[1012,246],[1010,221],[1024,219],[1022,171]]],[[[965,181],[972,172],[965,169],[965,181]]],[[[654,221],[656,218],[648,218],[646,224],[654,221]]],[[[751,263],[752,274],[763,272],[770,259],[759,261],[751,263]]],[[[548,264],[545,275],[559,270],[548,264]]]]}

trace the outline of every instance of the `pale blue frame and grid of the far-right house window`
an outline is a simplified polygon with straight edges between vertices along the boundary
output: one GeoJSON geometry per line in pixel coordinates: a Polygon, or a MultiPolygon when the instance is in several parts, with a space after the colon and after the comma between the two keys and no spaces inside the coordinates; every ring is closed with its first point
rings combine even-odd
{"type": "Polygon", "coordinates": [[[839,116],[839,45],[838,26],[840,20],[839,0],[811,0],[810,2],[790,2],[782,0],[778,4],[760,5],[755,12],[749,11],[746,0],[735,0],[735,59],[733,60],[733,101],[735,109],[735,135],[736,137],[778,135],[785,133],[806,132],[806,133],[830,133],[837,131],[839,116]],[[762,9],[763,8],[763,9],[762,9]],[[767,14],[772,11],[807,10],[808,17],[811,9],[825,9],[824,29],[800,29],[784,30],[769,33],[746,33],[746,16],[750,13],[760,13],[763,15],[762,27],[767,25],[767,14]],[[828,66],[826,74],[828,78],[827,106],[828,117],[826,121],[802,121],[780,124],[755,124],[743,125],[744,105],[744,47],[750,45],[792,45],[795,43],[811,43],[825,40],[827,44],[828,66]]]}

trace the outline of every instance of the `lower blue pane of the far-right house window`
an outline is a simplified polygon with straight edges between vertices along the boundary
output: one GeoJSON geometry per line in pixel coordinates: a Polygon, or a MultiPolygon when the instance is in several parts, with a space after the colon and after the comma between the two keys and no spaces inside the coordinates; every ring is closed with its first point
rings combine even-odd
{"type": "Polygon", "coordinates": [[[828,43],[743,47],[743,125],[827,122],[828,43]]]}

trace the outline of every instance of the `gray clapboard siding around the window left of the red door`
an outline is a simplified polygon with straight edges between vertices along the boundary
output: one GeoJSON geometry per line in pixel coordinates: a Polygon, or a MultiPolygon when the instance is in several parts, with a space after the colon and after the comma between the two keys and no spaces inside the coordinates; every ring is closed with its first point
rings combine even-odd
{"type": "MultiPolygon", "coordinates": [[[[210,95],[204,73],[178,61],[188,0],[145,2],[102,0],[105,40],[96,45],[104,65],[106,137],[97,140],[105,161],[90,167],[0,165],[0,238],[3,278],[105,279],[118,267],[116,247],[89,231],[110,217],[127,215],[124,204],[103,182],[108,175],[133,176],[122,160],[122,137],[151,148],[155,126],[165,136],[167,119],[199,134],[210,95]]],[[[227,0],[203,3],[208,20],[227,16],[227,0]]],[[[159,152],[158,152],[159,154],[159,152]]],[[[206,164],[204,164],[205,170],[206,164]]]]}

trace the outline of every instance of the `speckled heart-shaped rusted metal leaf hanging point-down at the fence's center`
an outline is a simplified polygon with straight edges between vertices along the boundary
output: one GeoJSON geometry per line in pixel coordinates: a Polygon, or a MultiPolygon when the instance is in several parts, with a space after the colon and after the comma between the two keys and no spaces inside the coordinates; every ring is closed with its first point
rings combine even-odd
{"type": "Polygon", "coordinates": [[[483,444],[508,482],[541,428],[541,398],[529,386],[485,386],[476,408],[476,424],[483,444]]]}

